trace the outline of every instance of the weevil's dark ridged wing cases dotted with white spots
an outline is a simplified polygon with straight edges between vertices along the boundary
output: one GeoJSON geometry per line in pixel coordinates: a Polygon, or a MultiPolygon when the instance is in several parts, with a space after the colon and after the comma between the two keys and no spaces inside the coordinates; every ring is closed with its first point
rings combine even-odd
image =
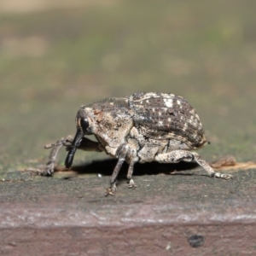
{"type": "Polygon", "coordinates": [[[134,112],[134,124],[144,136],[177,139],[190,148],[207,143],[199,116],[182,96],[140,92],[129,98],[129,104],[134,112]]]}

